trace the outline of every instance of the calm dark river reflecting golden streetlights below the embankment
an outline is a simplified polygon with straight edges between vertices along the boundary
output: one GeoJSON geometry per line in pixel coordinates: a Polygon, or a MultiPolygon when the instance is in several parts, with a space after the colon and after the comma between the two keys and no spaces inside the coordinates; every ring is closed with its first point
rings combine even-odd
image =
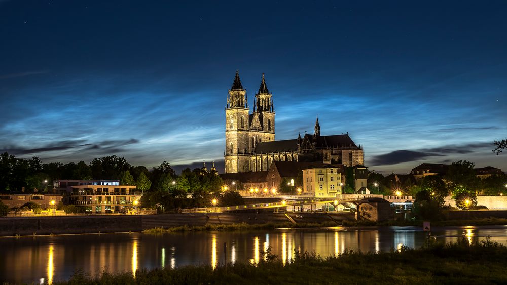
{"type": "MultiPolygon", "coordinates": [[[[507,244],[507,226],[432,228],[437,239],[493,240],[507,244]]],[[[257,261],[268,246],[282,262],[294,249],[321,256],[344,250],[389,251],[402,245],[418,248],[426,241],[419,227],[276,229],[241,232],[115,233],[0,238],[0,280],[52,282],[68,279],[76,269],[92,274],[104,268],[140,268],[188,264],[216,266],[226,261],[257,261]],[[224,243],[225,253],[224,253],[224,243]]]]}

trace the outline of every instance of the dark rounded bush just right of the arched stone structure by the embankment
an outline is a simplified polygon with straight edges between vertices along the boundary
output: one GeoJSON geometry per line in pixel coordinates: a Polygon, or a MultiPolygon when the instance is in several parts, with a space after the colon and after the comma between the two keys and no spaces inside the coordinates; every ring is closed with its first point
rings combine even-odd
{"type": "Polygon", "coordinates": [[[435,196],[428,190],[422,190],[415,195],[412,214],[416,219],[438,221],[443,218],[441,201],[435,196]]]}

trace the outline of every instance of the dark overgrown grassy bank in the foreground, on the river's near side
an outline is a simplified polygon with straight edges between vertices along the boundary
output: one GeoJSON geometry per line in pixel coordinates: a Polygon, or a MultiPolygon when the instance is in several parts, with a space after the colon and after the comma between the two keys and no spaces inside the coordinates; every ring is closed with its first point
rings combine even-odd
{"type": "Polygon", "coordinates": [[[257,264],[219,264],[215,269],[209,265],[143,269],[135,277],[132,272],[90,276],[78,271],[54,284],[507,283],[507,248],[489,240],[469,245],[460,239],[378,254],[346,251],[329,257],[296,251],[285,265],[269,252],[261,257],[265,260],[257,264]]]}

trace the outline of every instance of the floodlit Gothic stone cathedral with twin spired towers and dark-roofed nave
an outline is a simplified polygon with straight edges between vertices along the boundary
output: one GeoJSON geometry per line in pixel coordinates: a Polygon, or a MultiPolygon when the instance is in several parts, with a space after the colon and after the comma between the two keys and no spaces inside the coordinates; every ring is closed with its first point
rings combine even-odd
{"type": "Polygon", "coordinates": [[[321,136],[318,118],[313,134],[275,141],[275,108],[264,73],[250,113],[239,72],[229,90],[226,106],[225,173],[267,171],[273,161],[364,164],[363,147],[347,134],[321,136]]]}

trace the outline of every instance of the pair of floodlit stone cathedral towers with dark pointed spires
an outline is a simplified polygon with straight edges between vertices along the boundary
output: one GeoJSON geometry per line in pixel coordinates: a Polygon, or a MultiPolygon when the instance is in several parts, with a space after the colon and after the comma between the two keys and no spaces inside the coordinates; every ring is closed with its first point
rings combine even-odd
{"type": "Polygon", "coordinates": [[[275,140],[275,110],[264,73],[250,114],[246,90],[236,71],[226,107],[225,172],[253,171],[250,158],[260,142],[275,140]]]}

